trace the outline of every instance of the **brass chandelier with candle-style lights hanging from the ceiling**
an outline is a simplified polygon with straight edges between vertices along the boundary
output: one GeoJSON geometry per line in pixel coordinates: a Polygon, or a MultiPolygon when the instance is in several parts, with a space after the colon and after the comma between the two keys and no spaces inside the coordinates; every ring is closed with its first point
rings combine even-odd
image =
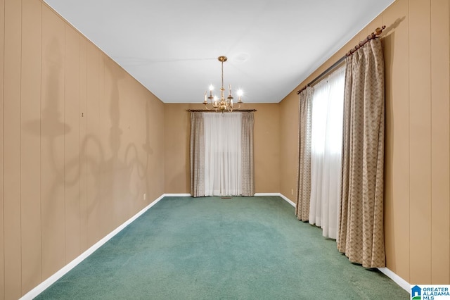
{"type": "Polygon", "coordinates": [[[220,88],[220,99],[217,98],[217,96],[212,94],[212,91],[214,90],[214,87],[210,85],[210,96],[207,96],[207,92],[205,91],[205,100],[203,101],[203,104],[205,104],[205,108],[210,111],[219,111],[221,113],[224,113],[226,111],[231,112],[233,109],[239,109],[240,104],[243,103],[243,101],[240,99],[240,96],[242,96],[243,92],[241,90],[238,90],[238,104],[239,106],[236,107],[236,104],[233,103],[233,96],[231,95],[231,85],[228,86],[228,96],[225,98],[225,88],[224,88],[224,62],[228,59],[226,56],[219,56],[217,58],[221,63],[221,75],[222,75],[222,81],[221,81],[221,88],[220,88]],[[208,107],[209,106],[209,107],[208,107]]]}

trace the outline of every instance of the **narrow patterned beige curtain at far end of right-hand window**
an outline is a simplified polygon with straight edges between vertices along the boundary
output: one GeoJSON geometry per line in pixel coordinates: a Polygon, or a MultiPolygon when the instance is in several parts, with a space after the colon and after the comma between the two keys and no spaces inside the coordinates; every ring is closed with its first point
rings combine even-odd
{"type": "Polygon", "coordinates": [[[300,93],[299,165],[297,167],[297,205],[295,214],[299,220],[309,219],[309,199],[311,196],[311,124],[312,87],[300,93]]]}

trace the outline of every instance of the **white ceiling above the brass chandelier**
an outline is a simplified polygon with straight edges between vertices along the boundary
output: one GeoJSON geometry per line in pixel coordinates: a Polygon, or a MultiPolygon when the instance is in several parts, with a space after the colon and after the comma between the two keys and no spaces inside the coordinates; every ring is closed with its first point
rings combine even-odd
{"type": "MultiPolygon", "coordinates": [[[[394,0],[44,0],[165,103],[277,103],[394,0]]],[[[375,30],[375,28],[373,28],[375,30]]]]}

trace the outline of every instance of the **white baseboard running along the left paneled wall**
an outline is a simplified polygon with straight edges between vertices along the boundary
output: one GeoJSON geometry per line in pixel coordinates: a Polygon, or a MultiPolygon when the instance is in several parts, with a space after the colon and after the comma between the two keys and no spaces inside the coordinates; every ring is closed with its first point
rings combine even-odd
{"type": "Polygon", "coordinates": [[[105,244],[106,242],[108,242],[112,237],[114,237],[115,235],[117,235],[117,233],[119,233],[122,229],[124,229],[124,227],[127,227],[127,225],[129,225],[130,223],[132,223],[134,220],[136,220],[137,218],[139,218],[139,216],[141,216],[143,213],[145,213],[146,211],[148,211],[149,208],[151,208],[152,206],[154,206],[155,204],[158,203],[158,201],[160,201],[162,198],[165,197],[165,194],[162,194],[158,199],[155,199],[155,201],[153,201],[152,203],[148,204],[148,206],[146,206],[145,208],[143,208],[141,211],[139,211],[139,213],[136,213],[136,215],[132,216],[131,218],[129,218],[129,220],[125,221],[122,225],[120,225],[119,227],[117,227],[115,230],[113,230],[112,232],[110,232],[110,234],[106,235],[105,237],[103,237],[103,239],[101,239],[100,241],[96,242],[96,244],[94,244],[93,246],[91,246],[91,248],[87,249],[86,251],[84,251],[82,254],[80,254],[77,258],[75,258],[73,261],[71,261],[70,263],[68,263],[67,265],[65,265],[63,268],[61,268],[60,270],[58,270],[58,272],[56,272],[55,274],[51,275],[49,278],[47,278],[46,280],[44,280],[43,282],[41,282],[40,285],[38,285],[37,287],[34,287],[34,289],[32,289],[30,292],[27,292],[27,294],[23,295],[20,299],[22,300],[28,300],[28,299],[33,299],[34,297],[36,297],[37,295],[41,294],[41,292],[44,292],[44,290],[48,287],[50,287],[51,285],[53,285],[54,282],[56,282],[58,279],[60,279],[60,277],[63,277],[63,275],[65,275],[66,273],[68,273],[70,270],[72,270],[73,268],[75,268],[79,263],[81,263],[82,261],[84,261],[85,258],[87,258],[89,255],[93,254],[94,251],[96,251],[98,248],[100,248],[101,246],[103,246],[103,244],[105,244]]]}

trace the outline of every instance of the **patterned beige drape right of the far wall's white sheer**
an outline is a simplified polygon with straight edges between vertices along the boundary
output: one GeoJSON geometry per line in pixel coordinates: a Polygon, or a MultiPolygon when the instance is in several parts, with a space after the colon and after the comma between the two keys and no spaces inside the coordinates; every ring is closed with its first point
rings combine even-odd
{"type": "Polygon", "coordinates": [[[255,168],[253,165],[253,113],[242,113],[242,133],[240,135],[242,147],[241,186],[243,196],[255,195],[255,168]]]}

